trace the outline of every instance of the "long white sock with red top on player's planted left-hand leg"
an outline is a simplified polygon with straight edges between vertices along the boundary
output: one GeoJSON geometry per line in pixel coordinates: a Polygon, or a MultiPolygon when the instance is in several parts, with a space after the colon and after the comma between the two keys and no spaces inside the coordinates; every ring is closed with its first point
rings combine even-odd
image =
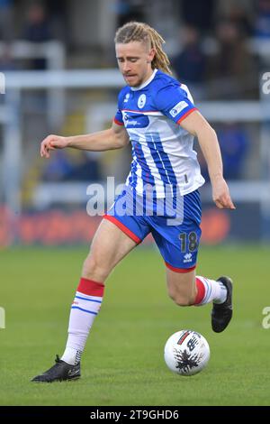
{"type": "Polygon", "coordinates": [[[87,336],[103,301],[103,283],[81,279],[71,306],[66,350],[61,357],[67,364],[80,362],[87,336]],[[92,293],[92,294],[90,294],[92,293]]]}

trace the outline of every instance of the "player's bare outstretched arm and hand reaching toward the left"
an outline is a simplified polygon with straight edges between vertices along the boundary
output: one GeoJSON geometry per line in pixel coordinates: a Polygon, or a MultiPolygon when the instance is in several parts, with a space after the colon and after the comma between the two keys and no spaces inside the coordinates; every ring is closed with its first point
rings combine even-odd
{"type": "Polygon", "coordinates": [[[40,156],[49,158],[49,151],[72,147],[79,150],[91,152],[104,152],[107,150],[121,149],[130,141],[129,134],[123,125],[112,123],[108,130],[93,134],[72,135],[62,137],[50,134],[40,145],[40,156]]]}

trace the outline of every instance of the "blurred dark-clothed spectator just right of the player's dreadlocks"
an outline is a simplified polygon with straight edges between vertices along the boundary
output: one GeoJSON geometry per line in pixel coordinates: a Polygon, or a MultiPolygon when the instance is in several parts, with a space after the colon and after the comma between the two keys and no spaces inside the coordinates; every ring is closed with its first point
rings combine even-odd
{"type": "Polygon", "coordinates": [[[191,88],[194,97],[202,98],[206,60],[199,32],[193,26],[185,26],[181,38],[183,50],[171,60],[172,68],[180,82],[191,88]]]}

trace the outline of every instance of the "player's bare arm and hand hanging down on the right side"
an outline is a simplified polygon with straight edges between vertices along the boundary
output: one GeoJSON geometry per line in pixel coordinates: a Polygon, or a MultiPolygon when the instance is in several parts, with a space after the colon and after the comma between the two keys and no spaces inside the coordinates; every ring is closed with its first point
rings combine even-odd
{"type": "Polygon", "coordinates": [[[211,180],[212,198],[217,207],[235,209],[230,195],[229,187],[223,178],[223,166],[220,145],[217,134],[198,110],[187,115],[180,125],[198,138],[203,156],[207,162],[211,180]]]}

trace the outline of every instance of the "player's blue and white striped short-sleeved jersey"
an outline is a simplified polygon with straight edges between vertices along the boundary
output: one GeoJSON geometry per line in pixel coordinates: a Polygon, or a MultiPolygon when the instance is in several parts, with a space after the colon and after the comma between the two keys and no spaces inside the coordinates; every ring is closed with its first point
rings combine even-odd
{"type": "Polygon", "coordinates": [[[126,184],[144,194],[153,186],[157,198],[181,195],[204,183],[193,135],[179,123],[195,110],[186,86],[155,69],[139,88],[122,88],[114,122],[130,135],[132,157],[126,184]]]}

